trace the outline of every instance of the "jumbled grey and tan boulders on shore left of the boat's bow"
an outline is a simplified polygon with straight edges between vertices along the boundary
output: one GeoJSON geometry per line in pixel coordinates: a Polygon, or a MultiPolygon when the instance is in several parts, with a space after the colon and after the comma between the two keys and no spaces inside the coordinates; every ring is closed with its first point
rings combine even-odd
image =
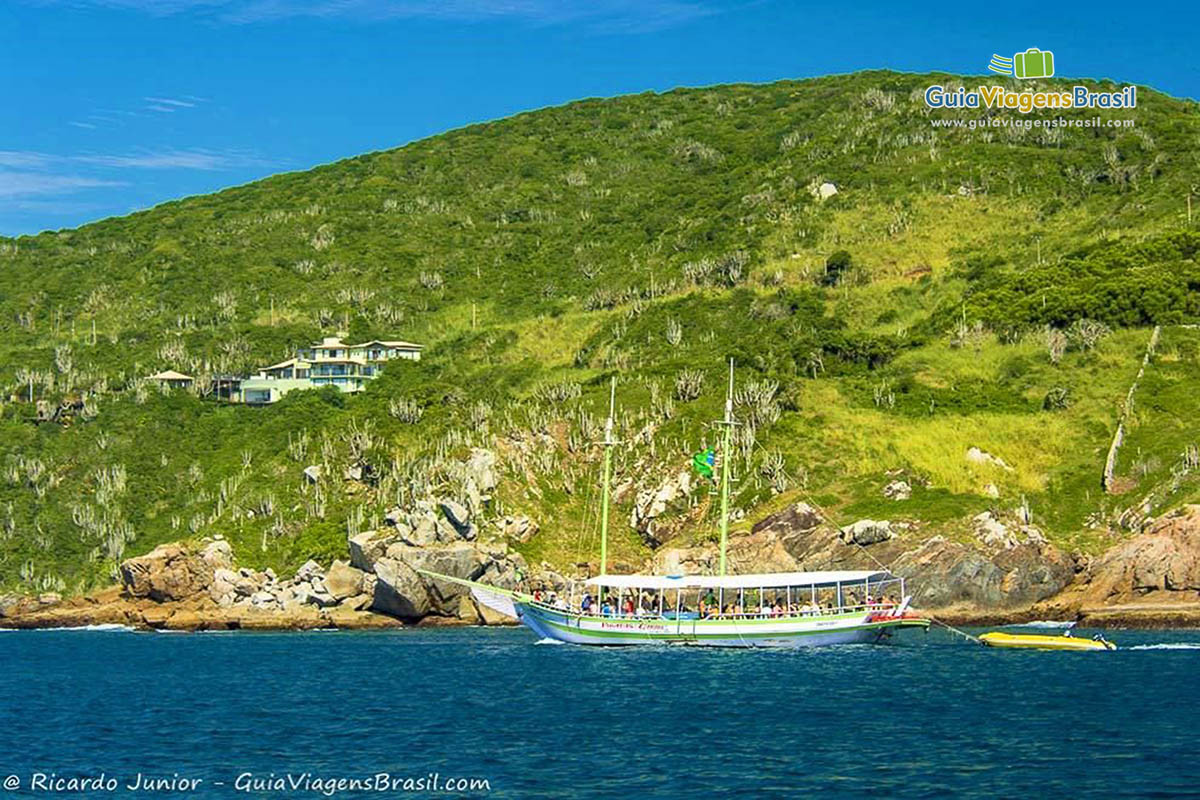
{"type": "MultiPolygon", "coordinates": [[[[486,467],[482,459],[480,469],[486,473],[486,467]]],[[[350,563],[334,561],[325,570],[307,561],[282,579],[269,569],[236,566],[223,539],[161,545],[124,561],[121,583],[110,590],[67,602],[2,599],[0,626],[307,630],[511,622],[480,608],[461,584],[416,570],[514,588],[527,571],[524,559],[503,543],[450,539],[419,547],[407,527],[367,531],[350,540],[350,563]]]]}

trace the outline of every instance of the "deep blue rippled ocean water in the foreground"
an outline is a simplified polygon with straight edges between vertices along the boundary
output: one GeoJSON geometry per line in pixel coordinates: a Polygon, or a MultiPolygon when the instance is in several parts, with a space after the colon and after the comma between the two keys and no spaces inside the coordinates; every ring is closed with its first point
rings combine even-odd
{"type": "Polygon", "coordinates": [[[0,798],[50,794],[30,790],[35,774],[119,781],[76,796],[422,796],[402,781],[431,772],[443,796],[462,777],[488,782],[462,795],[492,798],[1200,794],[1200,632],[1110,638],[1122,649],[989,650],[946,632],[716,651],[536,644],[523,628],[7,631],[0,780],[20,788],[0,798]],[[139,772],[202,782],[127,789],[139,772]],[[397,790],[331,783],[382,772],[397,790]]]}

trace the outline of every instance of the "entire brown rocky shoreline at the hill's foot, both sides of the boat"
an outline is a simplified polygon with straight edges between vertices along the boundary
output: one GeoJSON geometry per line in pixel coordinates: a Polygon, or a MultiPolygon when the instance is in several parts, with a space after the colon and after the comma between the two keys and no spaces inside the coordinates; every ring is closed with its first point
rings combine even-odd
{"type": "MultiPolygon", "coordinates": [[[[518,530],[529,521],[506,519],[518,530]]],[[[563,590],[548,565],[530,569],[505,536],[481,541],[472,510],[419,505],[349,540],[350,558],[294,576],[239,567],[223,539],[162,545],[120,566],[120,584],[85,597],[0,597],[0,627],[124,625],[145,630],[396,628],[503,625],[462,585],[418,570],[516,588],[563,590]]],[[[500,531],[505,533],[505,531],[500,531]]],[[[922,536],[911,523],[863,519],[835,528],[803,503],[734,535],[734,572],[872,569],[911,579],[913,604],[952,625],[1070,620],[1091,627],[1200,627],[1200,506],[1158,519],[1097,558],[1067,554],[1020,519],[982,513],[970,536],[922,536]]],[[[712,571],[713,545],[656,551],[641,569],[712,571]]],[[[582,576],[578,576],[582,577],[582,576]]]]}

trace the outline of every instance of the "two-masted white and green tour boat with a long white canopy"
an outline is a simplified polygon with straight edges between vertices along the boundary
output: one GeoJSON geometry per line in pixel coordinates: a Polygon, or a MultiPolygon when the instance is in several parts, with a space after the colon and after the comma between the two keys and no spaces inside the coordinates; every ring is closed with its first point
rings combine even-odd
{"type": "Polygon", "coordinates": [[[600,511],[600,575],[571,584],[566,596],[540,596],[436,572],[424,575],[470,588],[478,602],[546,639],[571,644],[690,644],[794,648],[876,643],[900,628],[929,628],[908,608],[905,581],[886,570],[726,575],[733,365],[725,399],[720,458],[721,515],[718,575],[608,575],[608,488],[612,480],[616,381],[605,425],[600,511]]]}

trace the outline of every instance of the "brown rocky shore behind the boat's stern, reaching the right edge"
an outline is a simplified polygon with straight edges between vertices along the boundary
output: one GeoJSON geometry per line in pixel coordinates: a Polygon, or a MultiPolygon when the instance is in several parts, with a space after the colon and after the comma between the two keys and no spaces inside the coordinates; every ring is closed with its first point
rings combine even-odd
{"type": "Polygon", "coordinates": [[[1062,552],[1018,515],[980,513],[970,536],[950,541],[905,523],[830,528],[804,504],[755,525],[742,549],[774,551],[776,569],[886,565],[912,579],[917,608],[950,625],[1200,627],[1200,506],[1159,518],[1098,558],[1062,552]]]}

